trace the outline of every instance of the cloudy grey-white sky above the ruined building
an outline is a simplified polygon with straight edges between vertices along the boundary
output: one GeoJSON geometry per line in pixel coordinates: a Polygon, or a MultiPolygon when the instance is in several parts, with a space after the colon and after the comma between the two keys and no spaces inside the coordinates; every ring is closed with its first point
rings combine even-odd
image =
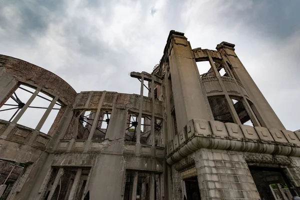
{"type": "Polygon", "coordinates": [[[77,92],[138,93],[169,30],[192,48],[235,52],[287,129],[300,129],[300,0],[0,0],[0,54],[48,69],[77,92]]]}

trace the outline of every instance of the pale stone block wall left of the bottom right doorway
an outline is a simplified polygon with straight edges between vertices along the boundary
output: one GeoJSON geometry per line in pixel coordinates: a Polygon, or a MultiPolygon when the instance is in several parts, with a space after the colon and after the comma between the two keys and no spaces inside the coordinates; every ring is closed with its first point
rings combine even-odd
{"type": "Polygon", "coordinates": [[[201,199],[260,199],[242,153],[201,148],[194,159],[201,199]]]}

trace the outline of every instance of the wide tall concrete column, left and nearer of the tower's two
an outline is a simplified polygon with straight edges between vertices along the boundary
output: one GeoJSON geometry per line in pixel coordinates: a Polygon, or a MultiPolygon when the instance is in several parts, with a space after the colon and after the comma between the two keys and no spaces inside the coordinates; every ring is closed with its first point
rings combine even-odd
{"type": "Polygon", "coordinates": [[[192,118],[209,120],[196,73],[194,55],[183,33],[170,32],[164,50],[165,55],[166,53],[170,66],[178,131],[192,118]]]}

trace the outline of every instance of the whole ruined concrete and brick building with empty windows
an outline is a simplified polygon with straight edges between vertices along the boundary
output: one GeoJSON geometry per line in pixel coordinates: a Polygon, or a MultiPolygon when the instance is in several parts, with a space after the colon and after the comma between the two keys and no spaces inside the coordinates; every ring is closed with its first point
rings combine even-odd
{"type": "Polygon", "coordinates": [[[0,199],[300,194],[300,132],[284,128],[234,44],[192,49],[183,33],[170,31],[153,71],[130,75],[140,80],[140,94],[77,93],[50,71],[0,55],[0,112],[12,111],[0,120],[0,199]],[[202,61],[210,69],[200,74],[202,61]],[[33,106],[36,98],[47,106],[33,106]],[[34,127],[21,125],[35,108],[44,109],[34,127]]]}

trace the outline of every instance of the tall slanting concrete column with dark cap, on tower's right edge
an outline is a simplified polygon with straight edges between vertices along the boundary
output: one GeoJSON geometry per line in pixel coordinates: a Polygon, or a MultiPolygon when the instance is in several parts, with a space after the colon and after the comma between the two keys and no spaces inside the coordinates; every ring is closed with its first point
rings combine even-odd
{"type": "Polygon", "coordinates": [[[239,80],[246,89],[246,92],[253,102],[251,108],[258,118],[260,125],[267,128],[277,128],[279,130],[285,129],[241,61],[238,59],[233,47],[234,44],[223,41],[217,45],[216,49],[226,55],[231,64],[231,70],[233,71],[235,78],[239,80]]]}

